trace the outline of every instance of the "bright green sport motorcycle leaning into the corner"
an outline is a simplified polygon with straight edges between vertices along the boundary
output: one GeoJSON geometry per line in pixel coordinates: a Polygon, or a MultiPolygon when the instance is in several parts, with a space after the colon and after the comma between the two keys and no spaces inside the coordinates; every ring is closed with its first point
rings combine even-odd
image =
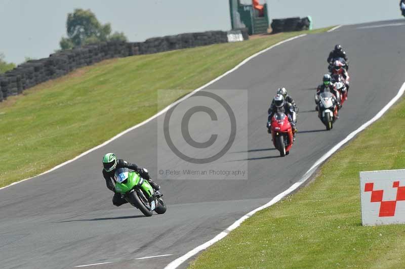
{"type": "Polygon", "coordinates": [[[114,173],[115,191],[141,212],[150,217],[155,211],[158,214],[166,212],[166,204],[162,194],[154,191],[147,180],[137,172],[128,168],[119,168],[114,173]]]}

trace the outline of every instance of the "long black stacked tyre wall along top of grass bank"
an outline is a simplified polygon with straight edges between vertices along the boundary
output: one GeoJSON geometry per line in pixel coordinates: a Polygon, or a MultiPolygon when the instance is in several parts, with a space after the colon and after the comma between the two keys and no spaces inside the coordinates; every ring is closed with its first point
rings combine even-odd
{"type": "Polygon", "coordinates": [[[48,58],[25,62],[0,74],[0,102],[8,96],[21,94],[24,89],[102,60],[226,43],[234,41],[235,34],[241,40],[249,38],[248,29],[245,28],[230,32],[208,31],[154,37],[144,42],[109,41],[61,51],[48,58]]]}

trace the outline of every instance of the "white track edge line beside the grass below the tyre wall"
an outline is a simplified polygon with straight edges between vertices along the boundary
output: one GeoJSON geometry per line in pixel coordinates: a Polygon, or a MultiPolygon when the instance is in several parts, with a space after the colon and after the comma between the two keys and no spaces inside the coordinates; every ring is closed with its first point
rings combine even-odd
{"type": "Polygon", "coordinates": [[[8,185],[8,186],[5,186],[5,187],[0,188],[0,190],[3,190],[3,189],[6,189],[6,188],[8,188],[8,187],[10,187],[10,186],[19,184],[19,183],[21,183],[21,182],[23,182],[23,181],[30,180],[31,178],[34,178],[34,177],[37,177],[37,176],[40,176],[40,175],[43,175],[43,174],[52,172],[52,171],[54,171],[54,170],[56,170],[56,169],[58,169],[58,168],[60,168],[60,167],[62,167],[62,166],[64,166],[64,165],[66,165],[66,164],[68,164],[68,163],[71,163],[71,162],[77,160],[77,159],[80,158],[80,157],[83,157],[83,156],[85,156],[85,155],[87,155],[87,154],[89,154],[89,153],[91,153],[91,152],[93,152],[93,151],[95,151],[95,150],[97,150],[97,149],[99,149],[99,148],[104,147],[105,145],[109,144],[110,142],[116,140],[117,138],[124,136],[127,132],[130,132],[130,131],[132,131],[132,130],[138,128],[138,127],[141,127],[142,125],[145,125],[146,123],[148,123],[149,121],[153,120],[154,118],[160,116],[161,114],[164,114],[166,111],[168,111],[168,110],[169,110],[170,108],[172,108],[173,106],[175,106],[175,105],[177,105],[178,103],[180,103],[180,102],[184,101],[185,99],[189,98],[190,96],[192,96],[192,95],[195,94],[196,92],[201,91],[201,89],[204,89],[205,87],[207,87],[207,86],[213,84],[214,82],[220,80],[221,78],[223,78],[224,76],[228,75],[229,73],[232,73],[233,71],[237,70],[239,67],[241,67],[242,65],[246,64],[247,62],[249,62],[249,61],[252,60],[253,58],[259,56],[260,54],[265,53],[265,52],[267,52],[268,50],[271,50],[272,48],[277,47],[277,46],[279,46],[279,45],[282,44],[282,43],[286,43],[286,42],[288,42],[288,41],[291,41],[291,40],[294,40],[294,39],[303,37],[303,36],[305,36],[305,35],[307,35],[307,34],[300,34],[300,35],[297,35],[297,36],[288,38],[288,39],[286,39],[286,40],[282,40],[282,41],[280,41],[280,42],[274,44],[273,46],[271,46],[271,47],[269,47],[269,48],[267,48],[267,49],[264,49],[263,51],[260,51],[260,52],[258,52],[258,53],[255,53],[254,55],[252,55],[252,56],[246,58],[245,60],[243,60],[241,63],[239,63],[238,65],[236,65],[236,66],[235,66],[234,68],[232,68],[231,70],[225,72],[224,74],[220,75],[219,77],[215,78],[214,80],[211,80],[211,81],[208,82],[207,84],[205,84],[205,85],[203,85],[203,86],[201,86],[201,87],[199,87],[199,88],[197,88],[197,89],[194,89],[194,91],[192,91],[192,92],[189,93],[188,95],[184,96],[183,98],[177,100],[176,102],[172,103],[171,105],[167,106],[166,108],[164,108],[163,110],[159,111],[159,112],[156,113],[155,115],[153,115],[153,116],[151,116],[150,118],[148,118],[148,119],[142,121],[141,123],[138,123],[138,124],[135,125],[135,126],[132,126],[132,127],[129,128],[129,129],[126,129],[126,130],[123,131],[123,132],[118,133],[118,135],[116,135],[115,137],[111,138],[110,140],[107,140],[107,141],[104,142],[103,144],[100,144],[100,145],[98,145],[98,146],[96,146],[96,147],[94,147],[94,148],[92,148],[92,149],[90,149],[90,150],[88,150],[88,151],[85,151],[85,152],[83,152],[82,154],[80,154],[80,155],[74,157],[73,159],[70,159],[70,160],[68,160],[68,161],[65,161],[64,163],[61,163],[61,164],[59,164],[59,165],[53,167],[52,169],[50,169],[50,170],[48,170],[48,171],[45,171],[45,172],[43,172],[43,173],[41,173],[41,174],[38,174],[38,175],[35,175],[35,176],[32,176],[32,177],[29,177],[29,178],[25,178],[25,180],[21,180],[21,181],[19,181],[19,182],[14,182],[14,183],[12,183],[12,184],[10,184],[10,185],[8,185]]]}

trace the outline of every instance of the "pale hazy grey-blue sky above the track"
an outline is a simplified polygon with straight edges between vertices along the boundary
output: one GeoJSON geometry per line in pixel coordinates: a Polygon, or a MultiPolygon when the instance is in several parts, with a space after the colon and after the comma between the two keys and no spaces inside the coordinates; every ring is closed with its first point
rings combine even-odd
{"type": "MultiPolygon", "coordinates": [[[[270,19],[310,15],[315,28],[401,18],[397,0],[267,0],[267,4],[270,19]]],[[[75,8],[91,9],[101,23],[110,22],[113,31],[123,31],[130,41],[230,29],[228,0],[0,0],[0,53],[17,64],[25,57],[48,57],[59,49],[67,14],[75,8]]]]}

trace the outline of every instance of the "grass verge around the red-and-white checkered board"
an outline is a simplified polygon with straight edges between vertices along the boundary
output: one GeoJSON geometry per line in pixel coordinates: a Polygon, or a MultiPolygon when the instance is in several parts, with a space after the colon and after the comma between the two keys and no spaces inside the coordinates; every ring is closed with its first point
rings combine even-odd
{"type": "Polygon", "coordinates": [[[358,174],[405,166],[403,126],[404,99],[309,186],[247,219],[190,268],[405,268],[405,226],[361,226],[358,174]]]}

